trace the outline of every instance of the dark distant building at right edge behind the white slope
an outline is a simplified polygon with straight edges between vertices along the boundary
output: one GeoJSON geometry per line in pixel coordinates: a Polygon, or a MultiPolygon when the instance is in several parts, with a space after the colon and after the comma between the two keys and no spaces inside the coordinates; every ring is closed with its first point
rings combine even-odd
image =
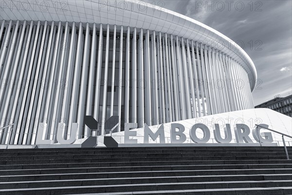
{"type": "Polygon", "coordinates": [[[259,104],[256,108],[270,108],[274,111],[292,117],[292,95],[285,98],[274,98],[259,104]]]}

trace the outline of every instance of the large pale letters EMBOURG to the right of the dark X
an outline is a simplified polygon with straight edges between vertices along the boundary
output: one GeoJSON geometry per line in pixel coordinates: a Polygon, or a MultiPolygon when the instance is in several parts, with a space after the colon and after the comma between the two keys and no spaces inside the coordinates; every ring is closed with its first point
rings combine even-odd
{"type": "MultiPolygon", "coordinates": [[[[266,124],[260,124],[264,127],[269,127],[269,125],[266,124]]],[[[225,127],[223,128],[224,135],[221,135],[219,124],[215,124],[215,129],[213,130],[214,138],[216,142],[218,143],[230,143],[232,140],[232,130],[230,124],[225,124],[225,127]],[[223,138],[224,137],[224,138],[223,138]]],[[[125,144],[133,144],[137,143],[137,139],[135,139],[135,136],[137,135],[137,132],[134,128],[137,128],[137,123],[126,123],[125,124],[125,144]],[[132,130],[130,130],[132,129],[132,130]],[[134,138],[130,138],[134,137],[134,138]]],[[[194,124],[189,130],[189,138],[192,140],[193,143],[207,143],[210,140],[211,132],[210,129],[202,123],[194,124]],[[199,138],[197,136],[197,131],[201,129],[203,133],[203,137],[199,138]]],[[[253,140],[251,139],[250,135],[250,128],[246,124],[236,124],[234,125],[234,135],[235,140],[237,143],[253,143],[253,140]]],[[[259,130],[259,129],[258,129],[259,130]]],[[[186,141],[187,135],[184,133],[186,131],[186,128],[180,124],[180,123],[171,123],[170,124],[170,142],[171,143],[184,143],[186,141]]],[[[254,137],[254,140],[259,142],[259,139],[262,143],[272,143],[273,137],[271,132],[263,132],[260,133],[260,137],[258,137],[258,133],[256,128],[252,131],[252,136],[254,137]]],[[[162,124],[156,132],[153,132],[146,124],[144,127],[144,143],[149,143],[149,138],[151,138],[153,141],[158,139],[159,137],[159,143],[165,143],[165,130],[164,125],[162,124]]]]}

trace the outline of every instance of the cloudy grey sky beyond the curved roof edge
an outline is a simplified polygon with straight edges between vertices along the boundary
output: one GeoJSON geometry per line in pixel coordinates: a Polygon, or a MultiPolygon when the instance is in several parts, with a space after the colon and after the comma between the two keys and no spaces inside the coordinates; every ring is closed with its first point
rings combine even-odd
{"type": "Polygon", "coordinates": [[[257,70],[255,105],[276,95],[292,94],[292,0],[145,1],[198,20],[243,43],[240,46],[257,70]]]}

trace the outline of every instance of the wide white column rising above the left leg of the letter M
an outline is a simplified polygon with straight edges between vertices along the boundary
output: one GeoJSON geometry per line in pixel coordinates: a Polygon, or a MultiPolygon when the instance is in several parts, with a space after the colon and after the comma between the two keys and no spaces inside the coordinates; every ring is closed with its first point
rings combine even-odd
{"type": "Polygon", "coordinates": [[[150,44],[149,30],[145,34],[145,123],[151,126],[151,79],[150,79],[150,44]]]}

